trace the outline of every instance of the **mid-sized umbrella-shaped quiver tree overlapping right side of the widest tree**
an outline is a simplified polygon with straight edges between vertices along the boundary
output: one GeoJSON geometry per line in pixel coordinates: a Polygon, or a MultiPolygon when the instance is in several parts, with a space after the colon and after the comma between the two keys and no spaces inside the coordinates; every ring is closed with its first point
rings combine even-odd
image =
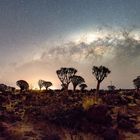
{"type": "Polygon", "coordinates": [[[76,87],[85,82],[84,78],[81,76],[74,75],[71,77],[71,82],[73,85],[73,90],[76,90],[76,87]]]}

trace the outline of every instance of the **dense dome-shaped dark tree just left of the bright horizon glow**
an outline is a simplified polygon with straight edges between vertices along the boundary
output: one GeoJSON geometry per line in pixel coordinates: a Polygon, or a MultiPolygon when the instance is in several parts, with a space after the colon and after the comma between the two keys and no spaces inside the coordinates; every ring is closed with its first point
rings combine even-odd
{"type": "Polygon", "coordinates": [[[20,92],[29,89],[29,84],[25,80],[18,80],[16,85],[20,88],[20,92]]]}

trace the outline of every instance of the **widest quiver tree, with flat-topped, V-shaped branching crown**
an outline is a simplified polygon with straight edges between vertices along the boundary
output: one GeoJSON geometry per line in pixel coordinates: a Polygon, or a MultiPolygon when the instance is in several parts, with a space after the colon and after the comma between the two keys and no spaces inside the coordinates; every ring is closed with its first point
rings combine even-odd
{"type": "Polygon", "coordinates": [[[75,68],[61,68],[56,71],[56,74],[61,81],[61,85],[64,90],[68,90],[68,86],[71,82],[71,77],[76,74],[77,70],[75,68]]]}

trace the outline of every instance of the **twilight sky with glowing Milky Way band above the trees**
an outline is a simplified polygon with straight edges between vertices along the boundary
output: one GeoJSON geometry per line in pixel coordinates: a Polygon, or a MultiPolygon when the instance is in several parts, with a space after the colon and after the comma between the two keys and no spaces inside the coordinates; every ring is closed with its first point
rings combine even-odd
{"type": "Polygon", "coordinates": [[[59,88],[56,70],[75,67],[89,88],[105,65],[117,88],[140,75],[140,0],[0,0],[0,82],[59,88]]]}

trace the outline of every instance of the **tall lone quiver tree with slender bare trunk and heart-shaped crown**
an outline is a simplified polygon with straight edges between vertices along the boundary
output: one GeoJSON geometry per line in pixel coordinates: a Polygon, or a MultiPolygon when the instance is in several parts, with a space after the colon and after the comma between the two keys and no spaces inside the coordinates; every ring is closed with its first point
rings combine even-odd
{"type": "Polygon", "coordinates": [[[100,83],[104,80],[105,77],[108,76],[108,74],[111,71],[106,68],[105,66],[93,66],[92,68],[92,74],[95,76],[96,80],[97,80],[97,88],[96,88],[96,94],[95,94],[95,99],[97,99],[98,97],[98,93],[99,93],[99,88],[100,88],[100,83]]]}

